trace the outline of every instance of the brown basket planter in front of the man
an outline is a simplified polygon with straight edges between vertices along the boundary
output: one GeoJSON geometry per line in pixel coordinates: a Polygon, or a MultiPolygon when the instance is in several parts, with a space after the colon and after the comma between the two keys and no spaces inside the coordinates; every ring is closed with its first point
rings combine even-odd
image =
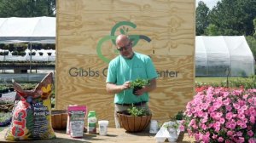
{"type": "Polygon", "coordinates": [[[125,115],[123,112],[117,112],[119,123],[128,132],[141,132],[148,127],[152,115],[142,117],[135,117],[131,115],[125,115]]]}

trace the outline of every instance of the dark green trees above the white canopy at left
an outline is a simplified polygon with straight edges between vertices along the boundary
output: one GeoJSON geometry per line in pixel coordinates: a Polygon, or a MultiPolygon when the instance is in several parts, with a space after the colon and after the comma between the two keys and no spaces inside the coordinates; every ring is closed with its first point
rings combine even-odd
{"type": "Polygon", "coordinates": [[[0,0],[0,17],[55,16],[55,0],[0,0]]]}

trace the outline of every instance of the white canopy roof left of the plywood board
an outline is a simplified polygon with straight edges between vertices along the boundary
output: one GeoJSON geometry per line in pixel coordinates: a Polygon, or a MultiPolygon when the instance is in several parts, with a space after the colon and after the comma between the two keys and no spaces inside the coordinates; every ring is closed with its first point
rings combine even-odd
{"type": "Polygon", "coordinates": [[[0,18],[0,43],[55,43],[55,17],[0,18]]]}

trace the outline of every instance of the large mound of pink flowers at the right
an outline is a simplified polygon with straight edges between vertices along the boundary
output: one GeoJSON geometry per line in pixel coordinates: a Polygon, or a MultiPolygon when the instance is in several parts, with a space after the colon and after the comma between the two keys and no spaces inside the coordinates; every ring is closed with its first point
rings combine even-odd
{"type": "Polygon", "coordinates": [[[256,89],[209,87],[189,101],[181,129],[198,142],[256,142],[256,89]]]}

